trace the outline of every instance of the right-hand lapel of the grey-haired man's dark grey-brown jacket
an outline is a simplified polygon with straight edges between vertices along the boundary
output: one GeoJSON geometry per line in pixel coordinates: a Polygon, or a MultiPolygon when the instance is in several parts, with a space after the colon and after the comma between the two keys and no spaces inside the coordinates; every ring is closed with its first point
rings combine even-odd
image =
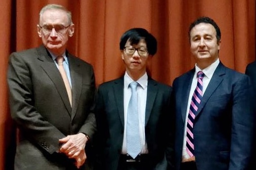
{"type": "Polygon", "coordinates": [[[76,59],[74,56],[66,53],[66,56],[68,56],[68,64],[69,64],[69,70],[70,70],[70,76],[72,81],[72,114],[71,118],[74,118],[76,115],[79,99],[82,91],[82,69],[80,69],[80,63],[76,62],[76,59]]]}

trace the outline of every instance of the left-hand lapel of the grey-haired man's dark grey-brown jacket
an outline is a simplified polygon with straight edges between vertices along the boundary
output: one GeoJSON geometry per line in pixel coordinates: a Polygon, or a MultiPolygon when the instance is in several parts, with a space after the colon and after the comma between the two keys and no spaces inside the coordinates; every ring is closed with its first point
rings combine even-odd
{"type": "Polygon", "coordinates": [[[38,59],[43,61],[41,64],[41,67],[44,69],[46,74],[50,77],[50,79],[54,83],[69,115],[71,115],[71,106],[69,104],[65,85],[59,73],[58,68],[56,67],[54,61],[52,60],[50,54],[48,54],[44,46],[41,46],[38,48],[38,54],[39,54],[38,59]]]}

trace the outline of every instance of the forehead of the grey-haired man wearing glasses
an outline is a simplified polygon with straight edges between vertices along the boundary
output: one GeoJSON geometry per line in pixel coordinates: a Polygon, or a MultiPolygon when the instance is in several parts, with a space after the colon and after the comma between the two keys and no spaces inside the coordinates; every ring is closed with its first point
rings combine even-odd
{"type": "Polygon", "coordinates": [[[68,18],[67,14],[63,10],[59,9],[49,9],[45,11],[41,18],[40,18],[40,23],[45,25],[45,24],[62,24],[65,25],[68,23],[68,18]]]}

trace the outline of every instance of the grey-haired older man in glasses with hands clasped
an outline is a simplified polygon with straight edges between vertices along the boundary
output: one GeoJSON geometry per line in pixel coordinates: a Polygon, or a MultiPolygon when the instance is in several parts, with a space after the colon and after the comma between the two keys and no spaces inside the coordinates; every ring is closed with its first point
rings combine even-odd
{"type": "Polygon", "coordinates": [[[75,29],[69,11],[47,5],[39,20],[43,45],[12,53],[9,61],[11,115],[19,129],[15,169],[91,169],[93,68],[66,51],[75,29]]]}

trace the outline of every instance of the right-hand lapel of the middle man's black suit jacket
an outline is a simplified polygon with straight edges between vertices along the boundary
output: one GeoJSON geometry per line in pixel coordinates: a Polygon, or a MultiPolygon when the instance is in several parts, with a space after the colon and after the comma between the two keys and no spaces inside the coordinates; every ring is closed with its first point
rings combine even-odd
{"type": "Polygon", "coordinates": [[[150,114],[157,96],[158,86],[157,83],[149,77],[148,90],[147,90],[147,104],[145,109],[145,125],[147,125],[150,114]]]}

